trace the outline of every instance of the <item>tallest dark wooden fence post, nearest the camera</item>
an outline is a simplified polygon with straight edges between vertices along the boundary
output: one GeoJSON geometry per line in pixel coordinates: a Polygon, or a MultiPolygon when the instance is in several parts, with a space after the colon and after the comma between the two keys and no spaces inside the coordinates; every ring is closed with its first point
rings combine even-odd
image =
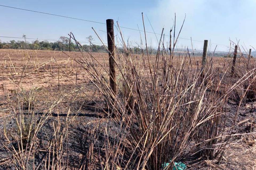
{"type": "MultiPolygon", "coordinates": [[[[107,19],[107,46],[109,50],[109,84],[113,91],[113,100],[117,96],[117,84],[115,75],[115,36],[114,36],[114,20],[107,19]]],[[[114,115],[113,115],[114,116],[114,115]]]]}

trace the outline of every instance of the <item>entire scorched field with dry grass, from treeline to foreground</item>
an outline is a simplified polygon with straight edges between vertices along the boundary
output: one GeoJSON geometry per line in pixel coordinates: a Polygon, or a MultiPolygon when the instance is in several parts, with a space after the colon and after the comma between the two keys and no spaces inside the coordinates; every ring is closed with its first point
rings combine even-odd
{"type": "Polygon", "coordinates": [[[256,168],[254,59],[117,56],[1,49],[0,169],[256,168]]]}

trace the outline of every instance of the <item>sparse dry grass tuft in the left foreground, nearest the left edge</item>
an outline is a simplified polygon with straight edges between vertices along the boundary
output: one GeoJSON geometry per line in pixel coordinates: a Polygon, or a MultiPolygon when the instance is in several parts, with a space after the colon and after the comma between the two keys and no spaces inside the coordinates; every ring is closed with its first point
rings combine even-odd
{"type": "Polygon", "coordinates": [[[15,117],[15,129],[9,129],[5,125],[3,130],[7,143],[3,143],[3,146],[16,169],[29,168],[28,162],[36,149],[34,146],[38,131],[46,120],[45,117],[39,118],[31,107],[35,95],[36,88],[32,88],[29,94],[26,94],[25,91],[18,93],[17,89],[16,99],[11,99],[7,93],[15,117]],[[24,107],[25,104],[27,104],[26,107],[24,107]]]}

